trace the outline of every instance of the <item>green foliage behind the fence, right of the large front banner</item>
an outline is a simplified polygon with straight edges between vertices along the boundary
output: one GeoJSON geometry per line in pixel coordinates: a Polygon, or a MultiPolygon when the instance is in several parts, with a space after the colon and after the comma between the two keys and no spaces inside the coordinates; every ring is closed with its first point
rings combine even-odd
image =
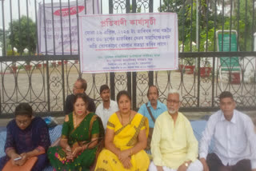
{"type": "MultiPolygon", "coordinates": [[[[164,0],[158,9],[161,12],[176,12],[178,14],[178,39],[179,46],[184,44],[184,52],[194,51],[214,51],[214,33],[217,30],[239,30],[238,43],[240,51],[250,51],[253,42],[253,32],[256,22],[253,23],[253,1],[235,1],[232,11],[232,18],[224,16],[222,13],[215,15],[215,2],[201,0],[198,6],[199,16],[199,41],[196,42],[196,0],[164,0]],[[247,6],[246,6],[247,2],[247,6]],[[238,5],[239,11],[238,11],[238,5]],[[207,12],[208,11],[208,12],[207,12]],[[239,18],[238,18],[239,17],[239,18]],[[215,22],[214,22],[215,21],[215,22]],[[231,21],[231,24],[230,24],[231,21]],[[208,23],[208,24],[207,24],[208,23]],[[215,26],[214,26],[215,23],[215,26]],[[222,26],[222,24],[224,25],[222,26]],[[231,28],[230,28],[231,26],[231,28]],[[199,48],[194,49],[192,42],[199,43],[199,48]],[[206,46],[207,42],[207,46],[206,46]]],[[[254,12],[254,13],[253,13],[254,12]]],[[[215,43],[216,45],[216,43],[215,43]]]]}

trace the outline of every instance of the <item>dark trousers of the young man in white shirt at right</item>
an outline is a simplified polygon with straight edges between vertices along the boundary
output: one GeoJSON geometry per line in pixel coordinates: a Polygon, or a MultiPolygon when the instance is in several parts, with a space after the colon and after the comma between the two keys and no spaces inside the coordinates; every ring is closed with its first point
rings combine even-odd
{"type": "Polygon", "coordinates": [[[209,153],[206,157],[210,171],[251,171],[250,160],[238,161],[235,165],[223,165],[221,159],[215,153],[209,153]]]}

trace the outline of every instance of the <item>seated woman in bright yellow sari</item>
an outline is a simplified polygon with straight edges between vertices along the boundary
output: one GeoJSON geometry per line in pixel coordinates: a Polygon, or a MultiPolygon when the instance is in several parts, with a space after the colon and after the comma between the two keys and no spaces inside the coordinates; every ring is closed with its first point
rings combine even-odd
{"type": "Polygon", "coordinates": [[[119,111],[107,122],[106,149],[99,153],[95,170],[147,170],[150,159],[143,149],[149,132],[148,120],[130,109],[127,91],[120,91],[117,100],[119,111]]]}

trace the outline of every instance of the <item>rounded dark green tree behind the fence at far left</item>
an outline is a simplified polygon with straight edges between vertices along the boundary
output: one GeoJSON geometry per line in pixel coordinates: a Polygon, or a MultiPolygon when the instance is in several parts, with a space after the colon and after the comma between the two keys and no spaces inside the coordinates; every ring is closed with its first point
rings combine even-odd
{"type": "Polygon", "coordinates": [[[19,54],[23,54],[23,50],[27,48],[34,54],[37,45],[36,24],[31,18],[22,16],[20,20],[14,20],[9,23],[12,32],[10,33],[10,45],[16,47],[19,54]]]}

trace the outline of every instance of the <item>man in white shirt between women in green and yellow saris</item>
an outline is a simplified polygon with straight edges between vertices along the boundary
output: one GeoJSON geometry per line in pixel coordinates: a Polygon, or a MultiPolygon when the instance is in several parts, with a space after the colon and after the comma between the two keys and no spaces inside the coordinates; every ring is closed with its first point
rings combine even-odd
{"type": "Polygon", "coordinates": [[[102,103],[98,105],[95,113],[102,118],[104,129],[106,129],[106,122],[111,114],[118,111],[118,104],[110,99],[110,88],[108,85],[102,85],[99,92],[102,97],[102,103]]]}

